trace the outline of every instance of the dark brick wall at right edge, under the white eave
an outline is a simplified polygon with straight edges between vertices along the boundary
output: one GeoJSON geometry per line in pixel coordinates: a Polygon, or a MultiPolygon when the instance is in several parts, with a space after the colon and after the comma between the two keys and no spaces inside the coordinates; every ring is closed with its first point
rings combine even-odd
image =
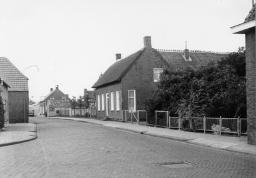
{"type": "Polygon", "coordinates": [[[246,99],[248,144],[256,145],[256,73],[255,73],[255,28],[246,33],[246,99]]]}

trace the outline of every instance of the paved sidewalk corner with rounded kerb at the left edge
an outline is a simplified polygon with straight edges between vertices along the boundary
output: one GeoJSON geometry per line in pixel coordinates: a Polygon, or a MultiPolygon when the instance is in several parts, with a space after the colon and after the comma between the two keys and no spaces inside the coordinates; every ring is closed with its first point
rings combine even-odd
{"type": "Polygon", "coordinates": [[[5,131],[0,132],[0,147],[20,144],[36,139],[36,124],[9,124],[5,131]]]}

